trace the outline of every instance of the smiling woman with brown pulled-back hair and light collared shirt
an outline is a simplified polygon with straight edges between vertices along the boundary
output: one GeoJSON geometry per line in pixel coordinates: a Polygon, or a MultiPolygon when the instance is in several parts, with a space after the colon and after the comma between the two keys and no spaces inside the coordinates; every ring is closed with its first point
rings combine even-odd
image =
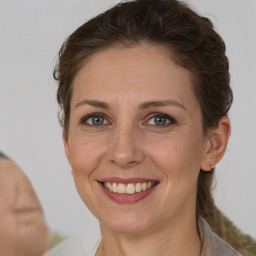
{"type": "Polygon", "coordinates": [[[203,219],[232,103],[207,18],[174,0],[121,3],[65,41],[54,77],[65,152],[102,240],[47,255],[239,255],[203,219]]]}

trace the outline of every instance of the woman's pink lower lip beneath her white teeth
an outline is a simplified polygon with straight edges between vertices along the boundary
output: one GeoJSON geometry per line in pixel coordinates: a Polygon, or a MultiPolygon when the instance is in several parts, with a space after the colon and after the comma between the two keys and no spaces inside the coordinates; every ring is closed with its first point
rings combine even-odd
{"type": "Polygon", "coordinates": [[[102,183],[100,183],[100,187],[102,188],[103,192],[114,202],[119,203],[119,204],[133,204],[133,203],[137,203],[141,200],[143,200],[144,198],[148,197],[151,192],[156,188],[156,185],[154,185],[153,187],[145,190],[145,191],[141,191],[135,194],[118,194],[118,193],[113,193],[111,191],[109,191],[107,188],[105,188],[103,186],[102,183]]]}

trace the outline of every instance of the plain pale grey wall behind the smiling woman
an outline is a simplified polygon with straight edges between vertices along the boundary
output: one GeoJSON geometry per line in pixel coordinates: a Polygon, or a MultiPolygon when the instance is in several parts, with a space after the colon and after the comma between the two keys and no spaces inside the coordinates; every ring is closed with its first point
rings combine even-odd
{"type": "MultiPolygon", "coordinates": [[[[114,0],[0,0],[0,150],[31,180],[51,230],[97,236],[62,145],[52,78],[64,39],[114,0]]],[[[217,165],[216,204],[256,238],[256,1],[187,0],[227,46],[234,104],[227,153],[217,165]]]]}

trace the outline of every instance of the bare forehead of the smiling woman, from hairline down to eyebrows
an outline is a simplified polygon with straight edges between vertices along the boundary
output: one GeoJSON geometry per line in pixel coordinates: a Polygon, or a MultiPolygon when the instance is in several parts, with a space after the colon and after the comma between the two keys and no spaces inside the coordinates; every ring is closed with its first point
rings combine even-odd
{"type": "Polygon", "coordinates": [[[172,59],[170,51],[160,46],[102,50],[92,55],[75,76],[72,101],[84,97],[81,91],[87,96],[97,92],[103,98],[108,92],[128,97],[132,91],[137,96],[163,97],[175,93],[176,97],[194,97],[192,74],[172,59]]]}

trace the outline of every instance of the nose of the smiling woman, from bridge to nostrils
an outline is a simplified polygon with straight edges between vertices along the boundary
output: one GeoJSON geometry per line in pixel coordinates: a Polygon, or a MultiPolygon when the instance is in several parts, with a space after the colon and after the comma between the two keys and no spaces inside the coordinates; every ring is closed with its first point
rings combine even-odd
{"type": "Polygon", "coordinates": [[[109,145],[109,160],[121,168],[131,168],[141,163],[144,152],[135,129],[117,127],[109,145]]]}

